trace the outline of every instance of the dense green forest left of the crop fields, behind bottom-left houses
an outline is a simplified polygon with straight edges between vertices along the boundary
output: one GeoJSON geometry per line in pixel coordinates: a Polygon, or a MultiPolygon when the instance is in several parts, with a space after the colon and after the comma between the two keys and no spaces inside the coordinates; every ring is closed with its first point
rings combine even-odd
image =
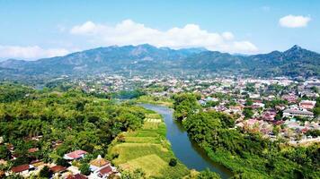
{"type": "Polygon", "coordinates": [[[32,90],[4,83],[0,85],[0,136],[14,146],[16,159],[9,160],[12,155],[5,145],[0,145],[0,158],[10,161],[9,167],[35,159],[64,166],[63,155],[75,149],[90,153],[85,160],[105,156],[117,134],[143,124],[144,110],[81,90],[32,90]]]}

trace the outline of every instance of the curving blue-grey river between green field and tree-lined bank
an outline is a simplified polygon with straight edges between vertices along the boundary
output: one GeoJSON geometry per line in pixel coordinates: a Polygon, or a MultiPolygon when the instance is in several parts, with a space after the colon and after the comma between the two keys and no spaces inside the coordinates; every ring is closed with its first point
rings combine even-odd
{"type": "Polygon", "coordinates": [[[172,109],[149,104],[142,104],[141,106],[156,111],[156,113],[164,117],[166,138],[172,145],[174,155],[179,158],[185,166],[198,171],[209,168],[211,171],[217,172],[221,178],[229,178],[232,176],[232,173],[226,167],[213,162],[203,149],[200,149],[196,143],[189,139],[182,124],[173,120],[172,109]]]}

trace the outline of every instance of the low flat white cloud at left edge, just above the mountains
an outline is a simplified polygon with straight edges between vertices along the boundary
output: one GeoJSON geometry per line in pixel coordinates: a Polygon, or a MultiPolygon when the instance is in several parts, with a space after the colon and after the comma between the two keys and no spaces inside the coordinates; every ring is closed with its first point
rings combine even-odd
{"type": "Polygon", "coordinates": [[[21,47],[21,46],[1,46],[0,58],[18,58],[23,60],[35,60],[43,57],[53,57],[58,55],[67,55],[69,51],[64,48],[44,49],[38,46],[21,47]]]}

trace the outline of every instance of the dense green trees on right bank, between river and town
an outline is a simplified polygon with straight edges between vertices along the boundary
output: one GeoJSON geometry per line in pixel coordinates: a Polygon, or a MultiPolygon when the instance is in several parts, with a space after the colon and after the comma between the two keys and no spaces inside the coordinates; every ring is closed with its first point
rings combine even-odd
{"type": "Polygon", "coordinates": [[[175,95],[174,115],[209,158],[227,166],[235,178],[318,178],[320,148],[290,147],[235,128],[232,116],[203,111],[193,94],[175,95]]]}

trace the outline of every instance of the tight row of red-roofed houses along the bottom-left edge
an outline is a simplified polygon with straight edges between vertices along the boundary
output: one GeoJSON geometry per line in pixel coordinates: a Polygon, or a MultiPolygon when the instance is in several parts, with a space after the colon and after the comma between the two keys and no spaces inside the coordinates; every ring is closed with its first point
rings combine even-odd
{"type": "MultiPolygon", "coordinates": [[[[119,175],[117,168],[111,166],[111,162],[102,158],[100,155],[90,161],[90,175],[81,174],[78,166],[72,166],[73,161],[79,161],[87,155],[84,150],[75,150],[64,155],[64,159],[68,161],[70,166],[59,166],[54,163],[46,164],[41,160],[32,161],[30,164],[25,164],[21,166],[13,166],[10,171],[4,173],[0,171],[1,175],[22,175],[23,177],[29,177],[31,175],[38,175],[40,170],[44,166],[49,167],[51,172],[51,178],[65,178],[65,179],[105,179],[109,178],[110,175],[119,175]]],[[[0,160],[3,164],[6,163],[4,160],[0,160]]]]}

